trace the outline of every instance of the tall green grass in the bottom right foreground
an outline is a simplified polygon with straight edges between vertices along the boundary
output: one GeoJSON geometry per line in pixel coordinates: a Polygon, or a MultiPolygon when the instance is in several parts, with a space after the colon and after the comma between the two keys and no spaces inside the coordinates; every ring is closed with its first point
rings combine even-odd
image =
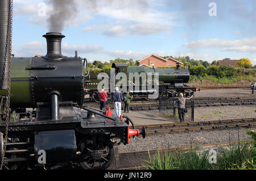
{"type": "Polygon", "coordinates": [[[253,137],[253,144],[238,142],[238,144],[230,144],[228,148],[220,147],[220,151],[216,152],[216,163],[209,162],[212,155],[209,150],[200,151],[198,148],[191,148],[189,151],[178,149],[158,151],[152,161],[151,159],[145,161],[146,165],[143,166],[149,170],[256,170],[256,132],[247,132],[247,134],[253,137]]]}

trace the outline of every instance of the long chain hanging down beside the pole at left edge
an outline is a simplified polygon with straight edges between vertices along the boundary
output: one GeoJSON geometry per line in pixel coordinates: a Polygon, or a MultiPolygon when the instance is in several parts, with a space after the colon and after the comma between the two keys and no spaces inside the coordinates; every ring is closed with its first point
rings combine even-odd
{"type": "Polygon", "coordinates": [[[8,80],[8,95],[6,100],[6,128],[5,128],[5,139],[3,140],[3,155],[1,160],[0,170],[3,169],[5,161],[5,152],[6,152],[6,143],[8,138],[8,126],[9,126],[9,113],[10,113],[10,93],[11,93],[11,48],[12,48],[12,36],[13,36],[13,0],[9,1],[9,14],[8,14],[8,23],[7,23],[7,32],[6,32],[6,44],[5,44],[5,62],[7,58],[7,49],[8,49],[8,38],[9,38],[9,28],[10,28],[10,59],[9,59],[9,80],[8,80]]]}

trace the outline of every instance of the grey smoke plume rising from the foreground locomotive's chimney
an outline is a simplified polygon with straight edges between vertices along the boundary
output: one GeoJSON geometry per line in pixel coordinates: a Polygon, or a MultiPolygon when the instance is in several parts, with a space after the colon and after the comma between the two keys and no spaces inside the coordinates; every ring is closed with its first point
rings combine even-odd
{"type": "Polygon", "coordinates": [[[76,18],[77,5],[75,0],[51,0],[53,10],[47,19],[49,32],[61,32],[76,18]]]}

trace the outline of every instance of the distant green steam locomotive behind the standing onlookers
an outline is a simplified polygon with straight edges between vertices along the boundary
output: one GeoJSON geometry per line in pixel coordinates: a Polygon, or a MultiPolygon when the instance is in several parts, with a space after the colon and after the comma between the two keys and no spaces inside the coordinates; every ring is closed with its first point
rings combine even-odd
{"type": "MultiPolygon", "coordinates": [[[[127,85],[129,83],[133,84],[133,86],[127,86],[127,91],[130,91],[134,98],[148,99],[148,96],[154,93],[157,93],[157,95],[160,96],[168,97],[177,97],[180,93],[183,93],[185,98],[191,98],[191,96],[197,91],[196,87],[185,85],[185,83],[188,83],[189,81],[189,70],[181,69],[180,65],[178,64],[176,69],[164,69],[154,67],[148,68],[145,66],[127,66],[126,63],[113,63],[112,68],[114,69],[117,77],[119,73],[126,74],[127,85]],[[134,75],[134,73],[138,73],[137,75],[144,73],[145,77],[139,78],[139,82],[135,82],[132,78],[130,79],[131,81],[129,81],[129,76],[134,75]],[[158,77],[155,77],[156,74],[158,77]],[[153,89],[148,90],[148,85],[152,85],[153,89]],[[136,86],[139,89],[136,89],[136,86]],[[156,90],[154,90],[154,86],[158,86],[157,92],[155,92],[156,90]]],[[[90,80],[91,81],[89,83],[86,83],[87,88],[85,90],[85,94],[89,94],[92,100],[97,101],[97,86],[102,80],[101,78],[98,78],[95,73],[90,74],[90,80]]],[[[120,79],[115,79],[115,83],[118,81],[120,81],[120,79]]]]}

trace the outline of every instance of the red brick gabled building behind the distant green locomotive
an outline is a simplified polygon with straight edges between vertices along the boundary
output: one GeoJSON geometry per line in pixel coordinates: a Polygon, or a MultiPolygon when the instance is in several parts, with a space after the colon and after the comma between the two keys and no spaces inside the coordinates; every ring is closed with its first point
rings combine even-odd
{"type": "Polygon", "coordinates": [[[173,58],[161,58],[156,56],[155,54],[151,54],[150,56],[143,58],[142,60],[139,61],[139,66],[148,66],[152,67],[153,65],[155,68],[158,67],[171,67],[171,66],[176,66],[176,64],[182,65],[183,63],[174,60],[173,58]]]}

